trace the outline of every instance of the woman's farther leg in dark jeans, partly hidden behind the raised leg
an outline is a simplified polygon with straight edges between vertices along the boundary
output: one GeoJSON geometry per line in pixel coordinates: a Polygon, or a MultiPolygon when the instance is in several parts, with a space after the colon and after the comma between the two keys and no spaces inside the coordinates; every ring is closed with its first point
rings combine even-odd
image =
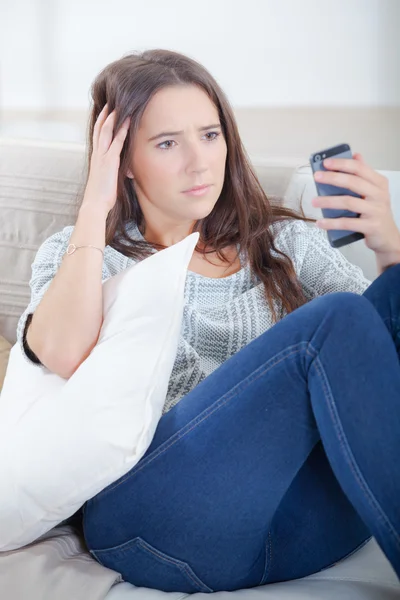
{"type": "MultiPolygon", "coordinates": [[[[387,269],[365,290],[364,296],[380,314],[400,359],[399,272],[400,265],[387,269]]],[[[269,583],[301,576],[299,574],[315,564],[320,548],[329,545],[334,557],[334,548],[344,550],[346,540],[349,544],[353,536],[362,535],[363,528],[366,530],[364,522],[360,518],[357,521],[353,505],[337,486],[338,480],[319,442],[294,478],[272,520],[266,546],[270,561],[265,579],[269,583]],[[353,536],[347,536],[349,529],[354,531],[353,536]]],[[[360,546],[369,539],[370,534],[366,533],[360,546]]],[[[348,547],[346,555],[352,553],[351,544],[348,547]]]]}

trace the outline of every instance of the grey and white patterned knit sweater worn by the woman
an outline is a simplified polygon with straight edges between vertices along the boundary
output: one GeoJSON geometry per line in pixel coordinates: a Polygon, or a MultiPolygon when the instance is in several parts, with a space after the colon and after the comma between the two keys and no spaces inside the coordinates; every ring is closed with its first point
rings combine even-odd
{"type": "MultiPolygon", "coordinates": [[[[308,300],[338,291],[362,294],[370,285],[360,267],[332,248],[326,233],[315,225],[285,220],[271,227],[276,247],[292,259],[308,300]]],[[[32,264],[31,301],[17,327],[18,343],[26,360],[31,362],[32,355],[24,346],[26,321],[56,274],[73,229],[65,227],[45,240],[32,264]]],[[[132,225],[130,235],[132,239],[143,239],[136,225],[132,225]]],[[[240,256],[240,271],[228,277],[216,279],[187,273],[181,336],[163,414],[225,360],[273,325],[263,286],[258,279],[254,281],[243,254],[240,256]]],[[[103,281],[134,262],[106,246],[103,281]]],[[[274,305],[277,314],[285,316],[282,305],[276,301],[274,305]]]]}

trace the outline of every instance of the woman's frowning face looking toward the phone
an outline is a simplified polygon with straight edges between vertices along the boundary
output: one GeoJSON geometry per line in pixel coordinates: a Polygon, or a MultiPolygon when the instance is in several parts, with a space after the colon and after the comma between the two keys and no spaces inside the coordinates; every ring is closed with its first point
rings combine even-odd
{"type": "Polygon", "coordinates": [[[155,223],[184,229],[206,217],[222,190],[226,154],[218,111],[205,92],[196,86],[158,91],[143,113],[128,171],[146,230],[155,223]],[[184,193],[204,184],[210,187],[202,196],[184,193]]]}

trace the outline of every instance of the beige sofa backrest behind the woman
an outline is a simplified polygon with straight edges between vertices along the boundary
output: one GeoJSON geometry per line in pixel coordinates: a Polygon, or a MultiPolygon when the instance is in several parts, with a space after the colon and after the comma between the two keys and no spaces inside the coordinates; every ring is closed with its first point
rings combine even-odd
{"type": "MultiPolygon", "coordinates": [[[[42,242],[73,225],[84,192],[85,146],[0,138],[0,335],[15,343],[42,242]]],[[[293,166],[254,161],[267,195],[282,197],[293,166]]]]}

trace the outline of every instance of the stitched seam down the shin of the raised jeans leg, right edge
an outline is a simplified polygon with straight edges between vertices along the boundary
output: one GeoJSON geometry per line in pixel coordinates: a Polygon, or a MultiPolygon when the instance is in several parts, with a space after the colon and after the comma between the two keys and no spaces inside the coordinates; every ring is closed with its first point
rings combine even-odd
{"type": "MultiPolygon", "coordinates": [[[[316,352],[316,350],[312,346],[311,342],[310,342],[310,346],[314,350],[314,352],[316,352]]],[[[319,374],[320,374],[322,386],[325,391],[325,400],[326,400],[326,403],[327,403],[327,406],[329,409],[329,413],[331,415],[331,420],[332,420],[334,429],[336,430],[339,445],[342,448],[346,462],[348,463],[355,479],[357,480],[357,482],[359,484],[361,492],[363,493],[364,497],[368,501],[370,507],[379,514],[379,516],[380,516],[382,522],[385,524],[388,532],[393,536],[393,539],[396,541],[397,545],[400,547],[400,537],[397,535],[396,531],[393,528],[393,525],[389,521],[389,519],[386,516],[386,514],[384,513],[381,505],[379,504],[379,502],[375,498],[374,494],[372,493],[371,489],[369,488],[367,482],[365,481],[365,479],[356,463],[354,455],[349,447],[348,440],[346,438],[346,435],[343,431],[343,427],[342,427],[340,419],[339,419],[335,400],[333,398],[333,394],[332,394],[332,391],[331,391],[329,383],[328,383],[328,378],[326,376],[325,370],[324,370],[322,363],[319,360],[318,356],[316,356],[314,362],[315,362],[316,369],[319,371],[319,374]]]]}

